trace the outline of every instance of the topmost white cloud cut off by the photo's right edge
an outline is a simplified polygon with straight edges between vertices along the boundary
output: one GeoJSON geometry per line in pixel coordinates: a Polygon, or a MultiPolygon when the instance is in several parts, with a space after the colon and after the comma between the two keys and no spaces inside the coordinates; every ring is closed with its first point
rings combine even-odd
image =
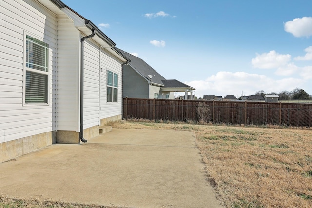
{"type": "Polygon", "coordinates": [[[284,30],[295,37],[312,36],[312,17],[296,18],[284,24],[284,30]]]}

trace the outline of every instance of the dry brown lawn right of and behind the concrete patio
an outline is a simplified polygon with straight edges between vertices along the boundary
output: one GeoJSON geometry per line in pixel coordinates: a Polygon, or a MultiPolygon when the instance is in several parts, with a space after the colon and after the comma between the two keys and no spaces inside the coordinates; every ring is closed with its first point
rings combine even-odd
{"type": "Polygon", "coordinates": [[[312,129],[122,121],[114,128],[194,132],[208,178],[231,208],[311,208],[312,129]]]}

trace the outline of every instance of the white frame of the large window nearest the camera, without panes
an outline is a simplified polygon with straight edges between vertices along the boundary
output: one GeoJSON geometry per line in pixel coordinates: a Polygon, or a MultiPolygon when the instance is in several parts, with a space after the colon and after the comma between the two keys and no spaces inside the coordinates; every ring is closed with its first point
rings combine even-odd
{"type": "Polygon", "coordinates": [[[24,106],[38,106],[38,105],[49,105],[50,104],[50,72],[51,72],[51,66],[50,66],[50,54],[51,54],[51,48],[50,48],[50,42],[45,41],[43,38],[40,38],[36,36],[35,34],[32,34],[30,32],[24,31],[24,41],[23,41],[23,105],[24,106]],[[35,38],[43,43],[46,43],[48,45],[47,47],[47,71],[41,71],[38,69],[32,69],[27,67],[26,63],[26,37],[29,36],[31,38],[35,38]],[[46,82],[46,102],[44,103],[36,103],[36,102],[26,102],[26,72],[33,72],[37,73],[40,75],[45,75],[47,77],[47,82],[46,82]]]}

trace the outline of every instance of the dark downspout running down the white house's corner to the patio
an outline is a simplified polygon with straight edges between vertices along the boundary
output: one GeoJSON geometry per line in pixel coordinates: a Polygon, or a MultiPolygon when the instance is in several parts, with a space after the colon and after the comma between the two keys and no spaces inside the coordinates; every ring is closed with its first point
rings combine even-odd
{"type": "Polygon", "coordinates": [[[79,138],[82,142],[86,143],[87,140],[83,138],[83,42],[85,39],[88,39],[88,38],[92,38],[94,37],[96,34],[95,30],[92,29],[92,34],[89,35],[89,36],[85,36],[85,37],[82,37],[80,42],[80,46],[81,46],[81,51],[80,51],[80,132],[79,132],[79,138]]]}

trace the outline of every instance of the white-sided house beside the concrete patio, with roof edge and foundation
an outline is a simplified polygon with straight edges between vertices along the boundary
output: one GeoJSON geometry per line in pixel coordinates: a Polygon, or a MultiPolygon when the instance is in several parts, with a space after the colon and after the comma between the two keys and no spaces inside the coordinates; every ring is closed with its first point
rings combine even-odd
{"type": "Polygon", "coordinates": [[[0,162],[121,119],[129,61],[60,0],[0,0],[0,162]]]}

